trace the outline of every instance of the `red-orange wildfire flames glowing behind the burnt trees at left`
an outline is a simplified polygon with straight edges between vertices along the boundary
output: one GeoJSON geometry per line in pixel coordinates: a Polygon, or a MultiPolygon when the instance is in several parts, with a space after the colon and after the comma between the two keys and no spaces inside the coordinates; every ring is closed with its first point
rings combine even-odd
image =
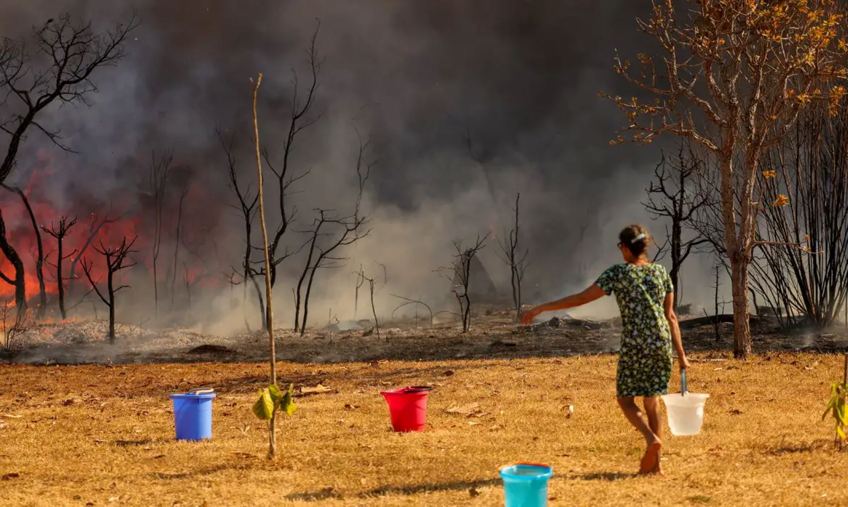
{"type": "MultiPolygon", "coordinates": [[[[63,239],[63,278],[66,294],[73,294],[80,298],[92,287],[86,279],[81,262],[87,259],[92,265],[91,275],[94,281],[105,281],[107,268],[103,255],[95,250],[102,243],[105,247],[113,247],[120,244],[123,238],[131,241],[137,237],[133,245],[134,252],[130,254],[131,259],[137,263],[131,270],[119,271],[116,281],[126,283],[126,280],[137,276],[153,276],[153,255],[150,231],[153,229],[153,214],[149,211],[148,196],[140,192],[138,196],[119,196],[112,203],[103,203],[98,198],[75,199],[68,208],[59,208],[55,205],[55,199],[51,198],[49,192],[49,181],[53,175],[50,169],[47,155],[39,154],[36,167],[31,170],[31,176],[22,188],[28,198],[36,223],[39,228],[42,241],[42,252],[44,257],[43,274],[45,292],[48,300],[55,298],[59,293],[59,281],[57,280],[56,263],[58,259],[58,245],[56,238],[42,231],[42,227],[51,229],[59,225],[63,216],[68,221],[76,218],[75,226],[70,228],[63,239]],[[73,278],[70,278],[73,276],[73,278]]],[[[200,287],[221,287],[226,284],[220,271],[213,271],[208,259],[209,252],[215,248],[209,248],[209,230],[215,227],[215,215],[209,213],[209,209],[196,209],[193,203],[208,203],[209,196],[205,195],[204,188],[197,182],[187,187],[187,195],[184,199],[181,213],[180,237],[175,237],[176,221],[178,215],[178,197],[166,200],[163,210],[162,241],[163,247],[159,253],[160,283],[171,280],[177,286],[198,285],[200,287]],[[174,274],[173,257],[175,245],[179,259],[174,274]],[[212,276],[217,272],[218,276],[212,276]]],[[[36,275],[36,263],[38,259],[38,243],[36,232],[33,231],[31,217],[24,203],[14,192],[3,192],[0,194],[0,207],[3,209],[3,219],[7,226],[7,237],[9,244],[20,255],[24,264],[24,277],[26,297],[31,304],[35,304],[39,294],[39,283],[36,275]]],[[[4,256],[0,255],[0,271],[4,276],[14,279],[14,266],[4,256]]],[[[5,281],[0,281],[0,301],[8,306],[14,305],[14,286],[5,281]]],[[[46,315],[44,321],[50,320],[46,315]]]]}

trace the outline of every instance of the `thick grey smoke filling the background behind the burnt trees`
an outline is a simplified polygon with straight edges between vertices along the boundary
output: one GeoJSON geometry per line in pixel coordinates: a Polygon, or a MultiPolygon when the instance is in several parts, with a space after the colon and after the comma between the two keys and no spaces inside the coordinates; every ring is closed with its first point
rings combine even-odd
{"type": "MultiPolygon", "coordinates": [[[[326,319],[329,309],[353,316],[353,272],[360,266],[377,279],[382,314],[396,306],[393,293],[453,304],[449,281],[434,270],[450,265],[454,240],[478,232],[493,236],[483,264],[506,287],[508,270],[495,252],[510,227],[516,191],[522,192],[530,249],[527,298],[550,297],[582,288],[616,262],[617,229],[646,218],[638,203],[658,150],[609,147],[622,118],[597,92],[626,89],[611,58],[616,47],[634,52],[644,42],[635,18],[648,8],[508,1],[10,4],[0,21],[10,37],[28,36],[29,27],[63,12],[92,20],[95,29],[128,20],[133,9],[141,21],[126,58],[94,76],[92,107],[45,114],[43,121],[60,128],[79,153],[63,153],[32,134],[13,179],[24,185],[49,170],[36,207],[45,222],[114,207],[134,217],[130,232],[140,237],[141,266],[129,275],[132,289],[121,295],[119,319],[141,322],[152,317],[151,152],[173,150],[175,165],[192,175],[183,228],[196,238],[184,249],[184,262],[192,272],[217,277],[194,288],[188,323],[218,332],[243,329],[242,289],[221,275],[239,265],[243,238],[228,206],[235,201],[215,128],[234,136],[239,176],[245,185],[254,181],[248,77],[262,72],[260,137],[272,159],[280,156],[293,72],[303,97],[305,51],[320,20],[320,87],[310,113],[320,119],[298,135],[293,153],[293,173],[310,172],[291,196],[299,211],[287,246],[295,250],[303,242],[298,231],[309,228],[316,207],[349,212],[360,139],[370,142],[366,157],[377,164],[363,200],[371,233],[343,252],[343,267],[318,276],[315,318],[326,319]]],[[[273,230],[276,192],[267,181],[266,189],[273,230]]],[[[176,188],[169,192],[167,254],[160,259],[166,266],[176,246],[179,198],[176,188]]],[[[26,224],[13,228],[23,235],[26,224]]],[[[258,231],[254,226],[257,245],[258,231]]],[[[293,320],[290,290],[302,257],[282,265],[275,288],[277,315],[285,323],[293,320]]],[[[180,285],[174,272],[163,283],[180,285]]],[[[180,298],[187,308],[186,295],[180,298]]],[[[256,326],[254,306],[248,299],[256,326]]],[[[591,311],[606,311],[598,308],[591,311]]]]}

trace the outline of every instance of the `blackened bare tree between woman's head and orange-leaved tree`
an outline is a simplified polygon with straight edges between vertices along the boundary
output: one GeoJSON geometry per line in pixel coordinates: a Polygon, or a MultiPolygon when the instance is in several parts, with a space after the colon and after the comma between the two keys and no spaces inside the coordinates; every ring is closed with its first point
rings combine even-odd
{"type": "Polygon", "coordinates": [[[674,287],[675,308],[680,302],[679,281],[683,262],[689,258],[692,248],[709,243],[704,237],[684,238],[683,235],[683,229],[691,225],[698,210],[709,203],[709,194],[701,192],[701,187],[693,182],[699,169],[700,159],[689,143],[685,148],[684,143],[680,144],[677,159],[673,162],[669,162],[666,154],[662,153],[660,163],[654,169],[655,177],[646,190],[648,199],[642,203],[654,220],[671,222],[672,230],[666,229],[666,242],[661,250],[667,249],[672,259],[672,269],[668,274],[674,287]]]}

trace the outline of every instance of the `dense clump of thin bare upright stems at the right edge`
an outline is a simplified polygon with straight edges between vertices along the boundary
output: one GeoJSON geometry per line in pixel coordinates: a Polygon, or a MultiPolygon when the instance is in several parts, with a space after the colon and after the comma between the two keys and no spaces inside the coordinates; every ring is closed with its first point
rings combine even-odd
{"type": "Polygon", "coordinates": [[[848,300],[848,109],[806,109],[761,166],[753,288],[782,325],[828,327],[848,300]]]}

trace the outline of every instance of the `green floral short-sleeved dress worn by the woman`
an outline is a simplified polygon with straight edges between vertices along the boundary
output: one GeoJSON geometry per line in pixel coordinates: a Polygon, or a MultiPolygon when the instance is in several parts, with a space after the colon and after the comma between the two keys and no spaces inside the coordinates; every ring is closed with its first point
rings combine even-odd
{"type": "Polygon", "coordinates": [[[622,312],[622,348],[618,356],[619,397],[657,396],[668,392],[672,376],[672,337],[663,303],[673,292],[664,267],[614,265],[595,284],[615,294],[622,312]]]}

